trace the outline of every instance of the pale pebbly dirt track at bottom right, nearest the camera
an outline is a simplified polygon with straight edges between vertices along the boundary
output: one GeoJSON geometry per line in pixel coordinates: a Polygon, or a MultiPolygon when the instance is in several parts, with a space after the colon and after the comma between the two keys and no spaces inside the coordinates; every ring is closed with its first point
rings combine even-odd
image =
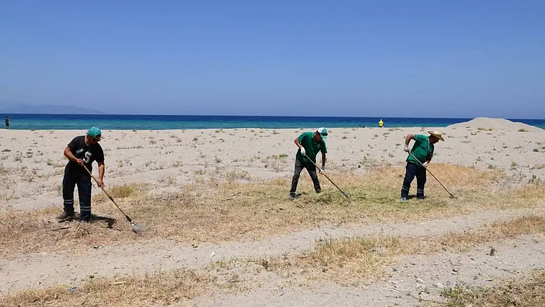
{"type": "Polygon", "coordinates": [[[421,306],[416,298],[420,292],[424,292],[421,296],[423,299],[439,300],[439,292],[456,282],[493,286],[499,278],[513,278],[526,270],[545,267],[543,237],[525,236],[495,242],[494,246],[498,249],[495,256],[487,255],[490,250],[488,246],[462,254],[404,256],[402,266],[395,267],[395,271],[394,267],[389,268],[392,272],[390,280],[372,282],[370,285],[344,287],[331,282],[315,282],[310,286],[282,288],[277,286],[282,283],[281,280],[268,280],[250,292],[217,293],[196,298],[192,303],[198,307],[421,306]],[[476,276],[479,278],[475,279],[476,276]]]}

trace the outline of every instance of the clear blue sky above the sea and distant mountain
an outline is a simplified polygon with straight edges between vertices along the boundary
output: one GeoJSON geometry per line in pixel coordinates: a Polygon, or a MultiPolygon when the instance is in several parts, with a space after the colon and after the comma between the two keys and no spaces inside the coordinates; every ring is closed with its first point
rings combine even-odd
{"type": "Polygon", "coordinates": [[[0,101],[545,118],[545,1],[0,0],[0,101]]]}

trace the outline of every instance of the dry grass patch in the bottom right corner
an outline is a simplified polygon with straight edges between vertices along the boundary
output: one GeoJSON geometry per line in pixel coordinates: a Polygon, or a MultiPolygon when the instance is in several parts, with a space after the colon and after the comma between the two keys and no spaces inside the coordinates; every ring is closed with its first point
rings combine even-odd
{"type": "Polygon", "coordinates": [[[502,282],[496,287],[458,286],[445,290],[444,303],[434,307],[542,307],[545,306],[545,270],[535,270],[523,278],[502,282]]]}

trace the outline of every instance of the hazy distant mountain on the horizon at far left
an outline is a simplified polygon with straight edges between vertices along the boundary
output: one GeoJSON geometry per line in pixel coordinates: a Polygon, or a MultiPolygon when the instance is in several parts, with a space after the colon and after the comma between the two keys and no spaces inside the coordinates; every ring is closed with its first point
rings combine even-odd
{"type": "Polygon", "coordinates": [[[105,114],[93,109],[78,106],[62,105],[27,105],[17,103],[2,103],[0,101],[0,113],[12,114],[105,114]]]}

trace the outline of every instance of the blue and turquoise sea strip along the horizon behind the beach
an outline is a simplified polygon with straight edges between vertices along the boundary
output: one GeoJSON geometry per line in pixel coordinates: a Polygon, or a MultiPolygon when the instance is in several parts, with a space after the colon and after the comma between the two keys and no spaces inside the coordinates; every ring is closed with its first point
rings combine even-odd
{"type": "MultiPolygon", "coordinates": [[[[169,129],[311,129],[378,127],[385,128],[446,127],[472,118],[409,118],[409,117],[301,117],[301,116],[206,116],[206,115],[71,115],[12,114],[10,129],[16,130],[83,130],[99,127],[106,130],[169,130],[169,129]]],[[[545,119],[510,119],[545,129],[545,119]]]]}

